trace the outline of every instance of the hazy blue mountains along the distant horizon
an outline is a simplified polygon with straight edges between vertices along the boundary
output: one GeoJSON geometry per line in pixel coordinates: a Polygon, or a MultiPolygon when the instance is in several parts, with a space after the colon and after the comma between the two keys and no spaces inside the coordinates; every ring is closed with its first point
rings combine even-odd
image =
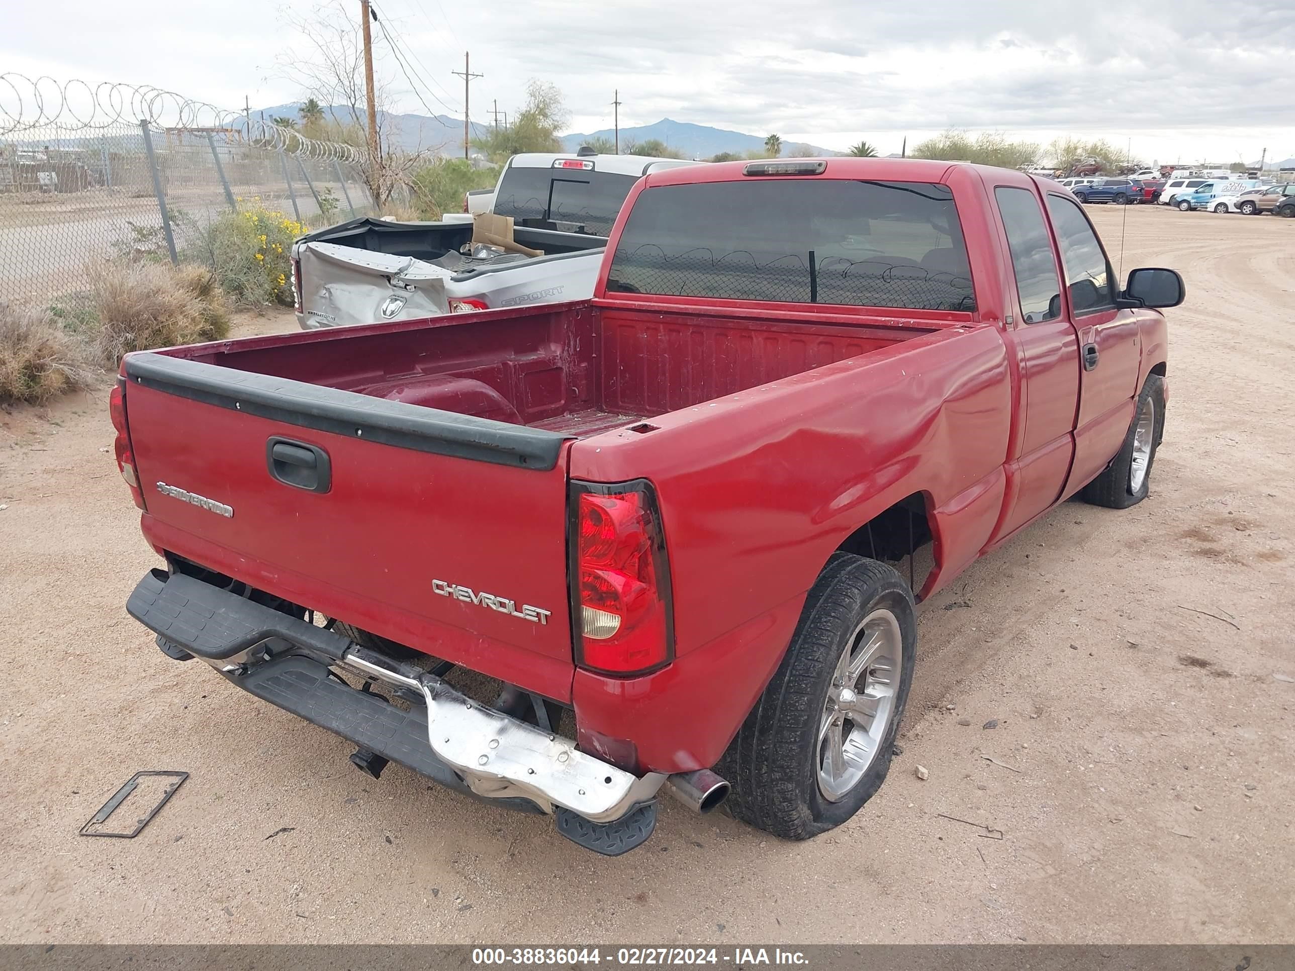
{"type": "MultiPolygon", "coordinates": [[[[298,118],[300,102],[290,105],[275,105],[273,107],[259,109],[253,113],[254,118],[298,118]]],[[[333,105],[324,109],[325,114],[335,120],[351,120],[351,109],[333,105]]],[[[434,149],[444,155],[457,155],[464,148],[464,119],[453,115],[421,115],[421,114],[395,114],[378,111],[378,123],[392,133],[398,148],[405,151],[414,151],[420,148],[434,149]]],[[[484,133],[486,126],[473,122],[473,137],[484,133]]],[[[597,132],[576,132],[562,136],[562,148],[575,151],[591,139],[613,139],[611,128],[597,132]]],[[[672,149],[679,149],[689,158],[710,158],[721,151],[732,151],[745,155],[764,148],[763,135],[747,135],[726,128],[715,128],[708,124],[694,124],[692,122],[676,122],[672,118],[662,118],[653,124],[641,124],[633,128],[620,129],[620,144],[631,141],[648,141],[657,139],[672,149]]],[[[790,155],[796,149],[811,149],[816,155],[834,155],[837,153],[817,145],[808,145],[799,141],[783,141],[782,154],[790,155]]]]}

